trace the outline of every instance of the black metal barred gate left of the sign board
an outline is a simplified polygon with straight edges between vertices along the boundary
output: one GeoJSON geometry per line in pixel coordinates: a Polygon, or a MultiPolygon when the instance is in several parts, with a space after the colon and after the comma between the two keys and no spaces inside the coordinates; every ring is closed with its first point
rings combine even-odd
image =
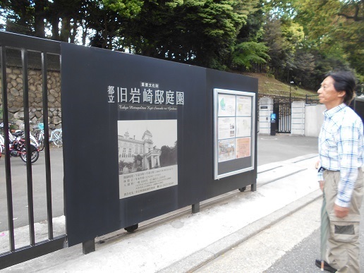
{"type": "MultiPolygon", "coordinates": [[[[8,107],[8,102],[11,102],[13,99],[12,92],[20,92],[23,93],[23,102],[18,102],[20,108],[23,108],[23,123],[24,123],[24,131],[25,131],[25,149],[26,151],[30,151],[30,90],[29,90],[29,77],[28,75],[30,68],[35,68],[41,71],[42,75],[42,109],[49,109],[48,106],[48,96],[49,90],[47,87],[47,70],[49,67],[49,63],[51,62],[60,62],[60,43],[49,41],[49,40],[40,40],[32,37],[26,37],[23,35],[13,35],[11,33],[0,32],[0,59],[1,59],[1,96],[2,100],[0,100],[0,108],[2,109],[2,121],[4,122],[4,156],[1,158],[5,171],[1,172],[0,179],[4,179],[4,183],[0,183],[0,186],[4,186],[6,188],[6,211],[7,211],[7,220],[8,220],[8,230],[3,232],[8,236],[8,250],[4,253],[0,253],[0,269],[4,269],[5,267],[9,267],[11,265],[16,265],[20,262],[24,262],[26,260],[30,260],[35,257],[39,257],[41,255],[45,255],[47,253],[51,253],[53,251],[59,250],[61,248],[66,247],[66,234],[61,234],[59,236],[54,236],[54,224],[53,224],[53,214],[52,214],[52,183],[51,183],[51,164],[49,157],[49,126],[48,126],[48,111],[42,111],[42,121],[44,123],[44,152],[42,152],[41,157],[44,157],[45,164],[45,190],[46,190],[46,202],[47,202],[47,229],[48,234],[47,238],[42,241],[36,241],[36,233],[35,233],[35,194],[33,194],[33,174],[32,174],[32,164],[30,160],[26,162],[26,181],[21,181],[23,184],[23,190],[26,193],[27,197],[27,207],[28,207],[28,226],[29,226],[29,242],[25,245],[19,245],[16,239],[19,238],[16,226],[14,225],[14,185],[18,183],[18,181],[14,181],[13,174],[11,171],[13,170],[13,164],[16,164],[17,160],[20,159],[11,159],[10,158],[10,140],[9,140],[9,113],[10,109],[8,107]],[[15,56],[15,57],[14,57],[15,56]],[[11,73],[8,73],[7,69],[9,66],[14,65],[14,61],[16,59],[20,61],[20,65],[18,64],[18,70],[21,71],[23,75],[23,79],[18,80],[22,82],[23,88],[22,90],[12,90],[12,83],[16,85],[16,82],[13,82],[13,78],[11,73]],[[38,60],[38,61],[35,61],[38,60]],[[35,67],[37,66],[39,67],[35,67]],[[10,77],[10,78],[9,78],[10,77]],[[4,175],[5,173],[5,175],[4,175]]],[[[11,116],[11,119],[14,118],[11,116]]],[[[29,154],[29,153],[28,153],[29,154]]],[[[23,167],[24,168],[24,167],[23,167]]],[[[17,185],[17,189],[19,185],[17,185]]],[[[3,192],[4,189],[1,188],[3,192]]],[[[2,210],[2,209],[1,209],[2,210]]],[[[5,220],[5,219],[1,219],[5,220]]],[[[6,221],[4,221],[6,222],[6,221]]],[[[3,248],[4,251],[4,248],[3,248]]],[[[1,251],[0,251],[1,252],[1,251]]]]}

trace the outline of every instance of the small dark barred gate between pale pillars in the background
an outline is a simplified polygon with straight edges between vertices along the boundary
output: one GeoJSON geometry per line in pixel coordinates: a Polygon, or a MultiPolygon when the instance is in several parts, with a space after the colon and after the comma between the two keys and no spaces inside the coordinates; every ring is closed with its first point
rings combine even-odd
{"type": "Polygon", "coordinates": [[[273,113],[277,116],[277,133],[291,133],[291,102],[274,99],[273,113]]]}

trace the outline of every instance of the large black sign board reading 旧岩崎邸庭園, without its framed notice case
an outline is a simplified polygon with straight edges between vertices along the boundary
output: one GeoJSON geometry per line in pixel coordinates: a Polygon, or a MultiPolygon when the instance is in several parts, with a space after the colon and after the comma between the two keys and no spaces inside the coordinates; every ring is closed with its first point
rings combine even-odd
{"type": "Polygon", "coordinates": [[[257,79],[61,44],[68,245],[255,183],[254,167],[214,179],[216,88],[257,79]]]}

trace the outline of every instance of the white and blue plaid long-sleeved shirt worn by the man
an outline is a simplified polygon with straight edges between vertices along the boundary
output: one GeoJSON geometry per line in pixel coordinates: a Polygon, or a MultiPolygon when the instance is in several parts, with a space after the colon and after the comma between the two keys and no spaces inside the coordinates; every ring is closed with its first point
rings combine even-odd
{"type": "MultiPolygon", "coordinates": [[[[364,164],[363,122],[346,104],[324,111],[319,135],[320,164],[325,169],[340,171],[335,204],[349,207],[358,168],[364,164]]],[[[324,180],[322,172],[319,181],[324,180]]]]}

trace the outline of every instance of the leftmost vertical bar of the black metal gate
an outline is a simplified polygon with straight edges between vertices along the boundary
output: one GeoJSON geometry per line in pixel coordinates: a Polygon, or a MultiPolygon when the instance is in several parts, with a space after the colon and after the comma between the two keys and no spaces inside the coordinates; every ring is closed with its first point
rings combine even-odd
{"type": "Polygon", "coordinates": [[[8,232],[10,251],[15,251],[14,220],[13,220],[13,189],[11,187],[11,166],[9,151],[9,119],[8,119],[8,91],[6,85],[6,51],[1,47],[1,92],[3,95],[3,123],[5,145],[5,175],[6,175],[6,199],[8,207],[8,232]]]}

